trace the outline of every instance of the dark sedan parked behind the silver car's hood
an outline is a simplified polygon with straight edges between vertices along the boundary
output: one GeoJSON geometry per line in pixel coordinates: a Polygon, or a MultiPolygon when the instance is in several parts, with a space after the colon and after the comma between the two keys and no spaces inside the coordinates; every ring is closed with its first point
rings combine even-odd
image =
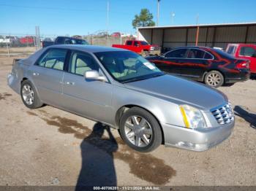
{"type": "Polygon", "coordinates": [[[178,47],[147,59],[162,71],[205,82],[211,87],[244,81],[250,75],[249,61],[210,47],[178,47]]]}

